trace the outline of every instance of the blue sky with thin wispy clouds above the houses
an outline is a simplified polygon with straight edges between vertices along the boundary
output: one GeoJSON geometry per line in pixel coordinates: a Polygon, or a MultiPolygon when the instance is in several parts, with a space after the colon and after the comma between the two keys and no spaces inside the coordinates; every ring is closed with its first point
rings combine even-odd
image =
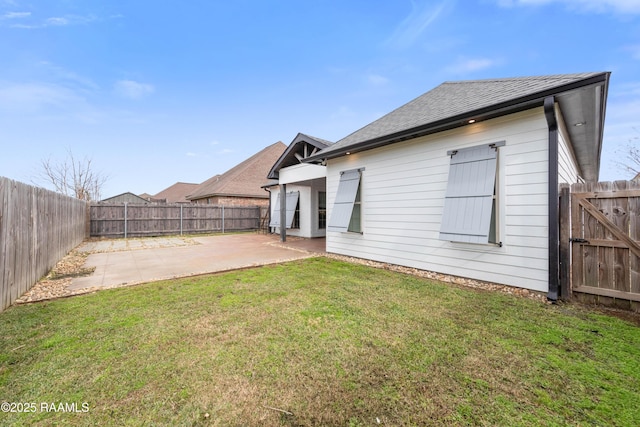
{"type": "Polygon", "coordinates": [[[640,137],[640,0],[0,0],[0,175],[67,150],[103,196],[337,141],[449,80],[611,71],[601,180],[640,137]]]}

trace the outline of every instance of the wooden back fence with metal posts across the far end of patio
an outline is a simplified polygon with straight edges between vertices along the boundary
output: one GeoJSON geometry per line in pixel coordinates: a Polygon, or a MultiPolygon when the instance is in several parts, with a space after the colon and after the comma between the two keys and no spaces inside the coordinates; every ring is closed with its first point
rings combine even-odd
{"type": "Polygon", "coordinates": [[[257,230],[260,208],[198,204],[92,204],[92,237],[149,237],[257,230]]]}

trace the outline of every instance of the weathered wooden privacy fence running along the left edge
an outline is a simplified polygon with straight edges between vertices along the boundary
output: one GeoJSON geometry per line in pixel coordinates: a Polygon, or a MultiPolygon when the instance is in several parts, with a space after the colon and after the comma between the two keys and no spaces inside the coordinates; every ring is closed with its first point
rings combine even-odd
{"type": "Polygon", "coordinates": [[[0,177],[0,311],[85,238],[86,203],[0,177]]]}

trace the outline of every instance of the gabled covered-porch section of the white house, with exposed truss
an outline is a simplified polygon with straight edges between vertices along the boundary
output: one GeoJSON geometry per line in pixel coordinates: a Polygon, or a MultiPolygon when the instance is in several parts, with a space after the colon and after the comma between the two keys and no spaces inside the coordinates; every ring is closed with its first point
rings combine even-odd
{"type": "Polygon", "coordinates": [[[284,222],[286,234],[299,237],[324,237],[327,228],[327,183],[324,166],[305,163],[305,159],[331,146],[324,139],[299,133],[275,162],[267,178],[273,183],[265,188],[271,194],[269,227],[280,233],[284,222]],[[280,218],[280,186],[286,187],[286,213],[280,218]],[[281,222],[282,221],[282,222],[281,222]]]}

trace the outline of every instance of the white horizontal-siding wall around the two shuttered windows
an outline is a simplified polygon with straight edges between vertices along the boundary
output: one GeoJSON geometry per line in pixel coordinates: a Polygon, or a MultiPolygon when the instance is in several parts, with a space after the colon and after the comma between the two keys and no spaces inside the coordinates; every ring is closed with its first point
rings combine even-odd
{"type": "Polygon", "coordinates": [[[362,234],[327,232],[329,252],[538,291],[548,280],[548,130],[542,108],[363,153],[327,165],[328,216],[340,171],[362,173],[362,234]],[[503,246],[438,239],[447,151],[505,141],[498,153],[503,246]]]}

